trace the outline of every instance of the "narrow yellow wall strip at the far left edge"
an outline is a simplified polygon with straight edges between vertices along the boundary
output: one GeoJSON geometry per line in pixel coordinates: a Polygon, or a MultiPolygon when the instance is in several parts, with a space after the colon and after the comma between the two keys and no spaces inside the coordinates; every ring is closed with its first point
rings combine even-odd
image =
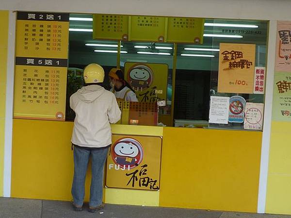
{"type": "Polygon", "coordinates": [[[8,44],[8,11],[0,11],[0,196],[3,196],[3,158],[8,44]]]}

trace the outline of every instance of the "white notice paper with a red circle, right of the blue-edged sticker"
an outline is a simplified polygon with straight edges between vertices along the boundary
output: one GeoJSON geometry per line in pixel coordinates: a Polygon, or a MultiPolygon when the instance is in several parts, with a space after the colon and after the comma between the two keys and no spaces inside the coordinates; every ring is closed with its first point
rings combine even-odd
{"type": "Polygon", "coordinates": [[[243,128],[261,130],[263,127],[264,104],[246,103],[243,128]]]}

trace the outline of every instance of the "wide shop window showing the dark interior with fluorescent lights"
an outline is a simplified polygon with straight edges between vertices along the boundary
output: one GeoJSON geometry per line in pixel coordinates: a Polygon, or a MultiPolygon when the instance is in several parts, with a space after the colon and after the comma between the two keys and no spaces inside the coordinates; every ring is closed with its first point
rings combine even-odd
{"type": "MultiPolygon", "coordinates": [[[[108,90],[108,73],[119,66],[139,102],[164,100],[166,106],[159,108],[156,122],[167,126],[243,129],[243,123],[209,124],[210,96],[239,95],[246,102],[264,103],[264,94],[219,93],[218,71],[221,43],[255,45],[254,66],[266,66],[267,21],[205,19],[203,44],[122,41],[118,57],[118,41],[92,39],[92,15],[70,17],[66,120],[75,116],[69,96],[81,88],[82,70],[92,62],[104,68],[108,90]],[[151,68],[155,75],[151,76],[151,68]],[[138,80],[132,78],[134,73],[148,76],[138,80]]],[[[128,124],[138,121],[129,118],[128,124]]]]}

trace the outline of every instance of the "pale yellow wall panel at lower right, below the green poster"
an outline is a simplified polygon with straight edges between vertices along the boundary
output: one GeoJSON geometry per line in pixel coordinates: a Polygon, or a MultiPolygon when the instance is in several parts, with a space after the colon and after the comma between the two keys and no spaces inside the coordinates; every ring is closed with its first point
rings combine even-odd
{"type": "Polygon", "coordinates": [[[272,122],[266,213],[291,214],[291,123],[272,122]]]}

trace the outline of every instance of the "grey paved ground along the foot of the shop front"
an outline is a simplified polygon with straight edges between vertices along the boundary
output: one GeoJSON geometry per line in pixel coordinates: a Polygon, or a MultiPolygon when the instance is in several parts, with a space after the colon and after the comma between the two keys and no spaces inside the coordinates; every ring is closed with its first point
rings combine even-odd
{"type": "Polygon", "coordinates": [[[162,207],[106,204],[101,213],[72,210],[70,202],[0,198],[0,218],[291,218],[287,215],[248,214],[162,207]]]}

